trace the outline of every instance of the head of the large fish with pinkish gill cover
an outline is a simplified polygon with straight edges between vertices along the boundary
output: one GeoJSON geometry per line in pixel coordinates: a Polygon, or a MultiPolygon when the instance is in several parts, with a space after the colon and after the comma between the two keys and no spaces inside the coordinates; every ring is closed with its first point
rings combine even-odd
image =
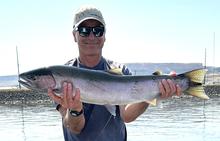
{"type": "Polygon", "coordinates": [[[19,75],[19,82],[26,88],[47,91],[48,88],[55,88],[56,81],[52,72],[47,68],[40,68],[19,75]]]}

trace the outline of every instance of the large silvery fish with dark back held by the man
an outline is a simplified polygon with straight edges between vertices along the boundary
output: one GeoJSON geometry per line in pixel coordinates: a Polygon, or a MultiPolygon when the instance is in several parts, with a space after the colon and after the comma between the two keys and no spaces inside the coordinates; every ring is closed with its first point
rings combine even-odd
{"type": "Polygon", "coordinates": [[[79,88],[81,100],[99,105],[126,105],[152,101],[160,97],[159,82],[171,79],[184,93],[209,99],[203,89],[205,69],[196,69],[176,76],[170,75],[117,75],[109,72],[89,70],[74,66],[50,66],[20,74],[20,83],[25,87],[47,93],[52,88],[62,92],[64,81],[79,88]]]}

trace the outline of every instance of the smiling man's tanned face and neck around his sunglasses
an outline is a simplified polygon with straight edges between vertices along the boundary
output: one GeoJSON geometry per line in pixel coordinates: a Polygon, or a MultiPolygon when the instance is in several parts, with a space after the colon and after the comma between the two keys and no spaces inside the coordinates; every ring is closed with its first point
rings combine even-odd
{"type": "MultiPolygon", "coordinates": [[[[79,28],[87,28],[89,27],[101,27],[102,24],[97,20],[86,20],[79,25],[79,28]]],[[[105,42],[105,33],[96,37],[94,33],[91,31],[88,36],[82,36],[79,34],[79,31],[73,32],[75,42],[77,42],[79,47],[80,55],[93,56],[93,55],[101,55],[102,47],[105,42]]]]}

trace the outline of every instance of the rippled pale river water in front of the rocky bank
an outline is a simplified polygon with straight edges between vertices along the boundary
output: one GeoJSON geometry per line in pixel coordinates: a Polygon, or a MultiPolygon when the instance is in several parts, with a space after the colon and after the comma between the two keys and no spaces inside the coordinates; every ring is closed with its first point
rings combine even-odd
{"type": "MultiPolygon", "coordinates": [[[[219,141],[220,97],[160,101],[127,124],[128,141],[219,141]]],[[[1,141],[63,141],[52,105],[0,105],[1,141]]]]}

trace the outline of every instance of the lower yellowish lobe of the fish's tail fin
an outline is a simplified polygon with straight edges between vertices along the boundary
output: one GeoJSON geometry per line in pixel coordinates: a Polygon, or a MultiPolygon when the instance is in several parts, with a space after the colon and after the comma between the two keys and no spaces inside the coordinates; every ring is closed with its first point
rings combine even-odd
{"type": "Polygon", "coordinates": [[[189,87],[189,89],[187,89],[185,92],[201,99],[209,99],[209,97],[205,94],[203,86],[189,87]]]}

